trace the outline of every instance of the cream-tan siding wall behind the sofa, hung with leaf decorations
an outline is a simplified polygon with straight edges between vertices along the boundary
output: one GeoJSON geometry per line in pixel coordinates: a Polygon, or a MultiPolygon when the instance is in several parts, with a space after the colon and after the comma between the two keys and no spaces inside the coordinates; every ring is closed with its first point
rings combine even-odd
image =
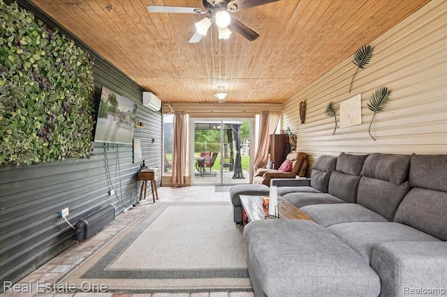
{"type": "MultiPolygon", "coordinates": [[[[298,150],[319,155],[347,153],[446,154],[447,153],[447,1],[433,0],[376,40],[374,56],[360,69],[349,93],[356,66],[348,59],[312,86],[284,102],[283,127],[298,135],[298,150]],[[367,108],[371,94],[388,86],[388,103],[376,114],[367,108]],[[362,96],[362,123],[339,127],[339,103],[362,96]],[[307,106],[300,123],[300,102],[307,106]],[[334,118],[325,116],[333,102],[334,118]]],[[[312,166],[312,164],[311,164],[312,166]]],[[[310,167],[309,166],[309,170],[310,167]]],[[[310,172],[310,171],[309,171],[310,172]]],[[[308,172],[308,174],[309,174],[308,172]]]]}

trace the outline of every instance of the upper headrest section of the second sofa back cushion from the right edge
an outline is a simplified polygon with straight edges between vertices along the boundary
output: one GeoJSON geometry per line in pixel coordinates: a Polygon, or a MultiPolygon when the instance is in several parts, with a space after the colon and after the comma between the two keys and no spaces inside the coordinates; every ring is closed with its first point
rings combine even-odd
{"type": "Polygon", "coordinates": [[[408,179],[409,165],[409,155],[372,153],[363,163],[361,174],[399,185],[408,179]]]}

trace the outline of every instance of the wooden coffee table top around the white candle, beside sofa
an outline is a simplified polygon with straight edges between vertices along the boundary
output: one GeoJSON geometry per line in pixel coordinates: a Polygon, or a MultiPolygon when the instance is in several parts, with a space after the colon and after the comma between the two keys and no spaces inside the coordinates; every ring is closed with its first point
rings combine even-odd
{"type": "MultiPolygon", "coordinates": [[[[265,218],[265,214],[268,213],[268,208],[263,207],[262,196],[240,195],[240,202],[244,208],[244,213],[247,214],[247,222],[268,219],[265,218]]],[[[278,196],[278,206],[280,219],[312,220],[308,215],[300,211],[299,208],[296,208],[281,196],[278,196]]]]}

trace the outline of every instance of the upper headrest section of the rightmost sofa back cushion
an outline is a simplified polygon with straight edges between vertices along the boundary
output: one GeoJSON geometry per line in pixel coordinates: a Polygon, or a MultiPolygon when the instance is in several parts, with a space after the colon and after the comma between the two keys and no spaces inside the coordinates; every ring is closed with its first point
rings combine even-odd
{"type": "Polygon", "coordinates": [[[447,192],[447,155],[411,155],[411,187],[447,192]]]}

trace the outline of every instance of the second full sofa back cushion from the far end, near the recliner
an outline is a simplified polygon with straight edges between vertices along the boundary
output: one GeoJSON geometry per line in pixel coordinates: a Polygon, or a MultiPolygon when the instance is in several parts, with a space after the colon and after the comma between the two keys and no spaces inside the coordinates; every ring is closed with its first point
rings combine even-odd
{"type": "Polygon", "coordinates": [[[340,153],[335,171],[330,174],[328,192],[348,203],[356,203],[363,162],[368,155],[340,153]]]}

